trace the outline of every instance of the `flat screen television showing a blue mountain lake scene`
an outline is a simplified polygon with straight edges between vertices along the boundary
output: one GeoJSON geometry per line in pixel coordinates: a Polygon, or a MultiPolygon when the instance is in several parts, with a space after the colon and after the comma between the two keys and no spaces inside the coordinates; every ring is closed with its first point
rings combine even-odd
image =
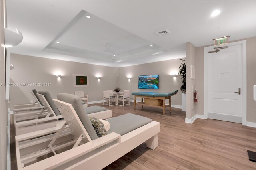
{"type": "Polygon", "coordinates": [[[139,89],[159,89],[159,75],[140,75],[139,89]]]}

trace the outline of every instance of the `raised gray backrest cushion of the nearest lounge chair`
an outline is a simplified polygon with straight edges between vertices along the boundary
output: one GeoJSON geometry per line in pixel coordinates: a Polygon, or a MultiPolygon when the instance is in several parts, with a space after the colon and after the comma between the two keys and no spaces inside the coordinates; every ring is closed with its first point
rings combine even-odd
{"type": "Polygon", "coordinates": [[[79,96],[67,94],[67,93],[59,93],[57,95],[57,98],[60,101],[70,103],[74,107],[76,114],[78,115],[80,121],[84,125],[84,128],[88,132],[90,138],[92,140],[97,139],[98,136],[94,130],[94,127],[92,126],[92,123],[90,122],[89,117],[87,116],[87,114],[84,111],[84,107],[82,106],[81,98],[79,96]]]}

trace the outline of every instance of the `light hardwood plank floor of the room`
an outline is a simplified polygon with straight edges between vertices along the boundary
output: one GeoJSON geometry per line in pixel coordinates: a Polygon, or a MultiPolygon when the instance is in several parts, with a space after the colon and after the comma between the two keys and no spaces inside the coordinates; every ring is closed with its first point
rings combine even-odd
{"type": "MultiPolygon", "coordinates": [[[[137,106],[134,110],[134,103],[104,107],[113,111],[113,117],[134,113],[161,123],[155,150],[143,143],[104,170],[256,170],[256,163],[249,161],[247,154],[247,150],[256,151],[256,128],[213,119],[184,123],[186,113],[176,108],[172,108],[171,114],[166,109],[166,115],[162,115],[162,109],[147,106],[143,109],[137,106]]],[[[11,132],[12,169],[16,169],[11,132]]]]}

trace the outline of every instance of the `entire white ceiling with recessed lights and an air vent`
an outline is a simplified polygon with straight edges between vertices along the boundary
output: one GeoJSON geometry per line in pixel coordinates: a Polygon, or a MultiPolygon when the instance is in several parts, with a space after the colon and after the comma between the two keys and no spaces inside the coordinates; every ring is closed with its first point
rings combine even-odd
{"type": "Polygon", "coordinates": [[[185,57],[186,42],[256,36],[256,1],[8,0],[7,22],[24,36],[12,53],[124,67],[185,57]]]}

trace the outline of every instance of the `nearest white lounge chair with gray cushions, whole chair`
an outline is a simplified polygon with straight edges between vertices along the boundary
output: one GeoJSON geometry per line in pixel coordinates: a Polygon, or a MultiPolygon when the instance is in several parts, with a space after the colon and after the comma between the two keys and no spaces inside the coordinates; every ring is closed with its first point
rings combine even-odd
{"type": "MultiPolygon", "coordinates": [[[[59,141],[66,132],[65,124],[55,137],[48,135],[37,139],[41,134],[33,133],[16,136],[18,169],[102,169],[145,141],[147,147],[151,149],[158,146],[159,122],[138,115],[125,114],[108,119],[110,131],[106,136],[98,138],[89,118],[84,114],[81,99],[70,94],[59,94],[58,97],[68,102],[54,99],[66,121],[65,124],[72,131],[73,138],[69,141],[73,144],[73,148],[56,154],[56,150],[63,148],[63,144],[68,145],[67,140],[63,141],[64,138],[61,138],[62,144],[59,141]],[[30,141],[30,138],[34,139],[30,141]],[[40,143],[46,140],[47,142],[40,143]],[[27,146],[26,152],[23,150],[24,145],[27,146]],[[39,156],[50,152],[56,155],[33,162],[39,156]]],[[[49,134],[53,130],[46,129],[41,133],[49,134]]]]}

